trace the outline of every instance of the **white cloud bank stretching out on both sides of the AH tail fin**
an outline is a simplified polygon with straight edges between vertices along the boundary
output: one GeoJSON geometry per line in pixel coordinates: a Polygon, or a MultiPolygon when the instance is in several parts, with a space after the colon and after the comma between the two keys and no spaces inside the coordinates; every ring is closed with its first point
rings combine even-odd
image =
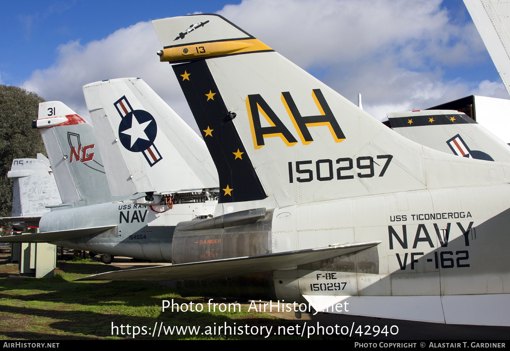
{"type": "MultiPolygon", "coordinates": [[[[487,59],[474,25],[455,24],[440,0],[245,0],[219,13],[256,36],[367,112],[419,110],[473,93],[507,98],[499,82],[445,79],[449,68],[487,59]]],[[[150,22],[107,38],[58,48],[57,62],[34,71],[22,87],[88,115],[82,86],[141,77],[197,130],[150,22]]],[[[483,63],[483,62],[482,62],[483,63]]]]}

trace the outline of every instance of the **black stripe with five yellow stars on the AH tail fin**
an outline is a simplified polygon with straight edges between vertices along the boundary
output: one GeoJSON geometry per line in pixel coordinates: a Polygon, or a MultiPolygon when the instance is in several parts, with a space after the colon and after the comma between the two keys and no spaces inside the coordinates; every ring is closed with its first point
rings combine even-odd
{"type": "Polygon", "coordinates": [[[206,61],[172,68],[218,170],[219,202],[265,199],[267,195],[234,123],[227,117],[229,112],[206,61]]]}

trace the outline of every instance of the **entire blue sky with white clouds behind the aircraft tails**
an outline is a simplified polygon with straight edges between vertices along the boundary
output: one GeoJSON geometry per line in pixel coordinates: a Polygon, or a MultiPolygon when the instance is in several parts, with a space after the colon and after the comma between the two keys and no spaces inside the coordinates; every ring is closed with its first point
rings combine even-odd
{"type": "Polygon", "coordinates": [[[194,12],[224,15],[353,102],[361,92],[378,119],[470,94],[508,98],[462,0],[2,2],[0,83],[87,118],[83,85],[140,76],[191,125],[150,20],[194,12]]]}

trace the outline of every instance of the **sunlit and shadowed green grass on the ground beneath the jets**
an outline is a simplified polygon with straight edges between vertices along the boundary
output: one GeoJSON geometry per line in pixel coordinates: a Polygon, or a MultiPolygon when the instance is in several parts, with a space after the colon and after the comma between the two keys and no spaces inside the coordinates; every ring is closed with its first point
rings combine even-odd
{"type": "MultiPolygon", "coordinates": [[[[112,336],[112,322],[117,327],[145,326],[147,335],[137,335],[136,339],[158,339],[157,333],[154,338],[151,333],[156,323],[159,329],[161,322],[164,327],[200,326],[200,333],[207,326],[223,326],[225,322],[232,327],[234,322],[237,326],[273,326],[273,330],[277,326],[294,324],[267,314],[248,312],[246,307],[236,313],[207,312],[207,301],[203,298],[182,298],[175,288],[157,282],[73,282],[115,268],[90,259],[58,261],[52,278],[10,280],[8,275],[17,272],[17,265],[9,264],[8,255],[9,252],[0,252],[0,340],[131,338],[112,336]],[[179,304],[202,303],[205,311],[162,312],[162,300],[171,299],[179,304]]],[[[163,334],[159,339],[264,339],[245,335],[163,334]]]]}

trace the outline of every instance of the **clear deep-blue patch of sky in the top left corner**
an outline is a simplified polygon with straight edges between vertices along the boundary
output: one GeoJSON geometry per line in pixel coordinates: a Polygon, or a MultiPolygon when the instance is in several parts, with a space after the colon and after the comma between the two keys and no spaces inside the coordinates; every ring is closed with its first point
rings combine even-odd
{"type": "Polygon", "coordinates": [[[216,12],[222,1],[19,1],[2,2],[0,74],[4,84],[19,85],[35,69],[52,65],[56,48],[107,37],[120,28],[195,11],[216,12]]]}

